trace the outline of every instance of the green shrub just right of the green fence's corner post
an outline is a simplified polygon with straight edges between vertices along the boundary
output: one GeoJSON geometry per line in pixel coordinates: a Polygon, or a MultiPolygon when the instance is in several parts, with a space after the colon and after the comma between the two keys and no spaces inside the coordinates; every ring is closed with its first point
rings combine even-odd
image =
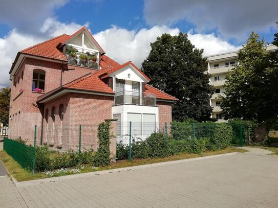
{"type": "Polygon", "coordinates": [[[43,172],[51,169],[49,156],[50,156],[50,152],[47,146],[36,148],[36,162],[35,162],[36,172],[43,172]]]}

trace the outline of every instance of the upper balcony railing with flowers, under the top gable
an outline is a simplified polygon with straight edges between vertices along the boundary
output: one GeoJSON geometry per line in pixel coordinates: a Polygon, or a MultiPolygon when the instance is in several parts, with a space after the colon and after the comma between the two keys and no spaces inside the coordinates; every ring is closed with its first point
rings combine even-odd
{"type": "Polygon", "coordinates": [[[71,56],[70,54],[66,54],[68,64],[73,64],[81,67],[96,68],[97,70],[99,69],[99,59],[93,60],[90,57],[88,59],[82,59],[79,57],[80,54],[81,53],[77,53],[75,57],[71,56]]]}

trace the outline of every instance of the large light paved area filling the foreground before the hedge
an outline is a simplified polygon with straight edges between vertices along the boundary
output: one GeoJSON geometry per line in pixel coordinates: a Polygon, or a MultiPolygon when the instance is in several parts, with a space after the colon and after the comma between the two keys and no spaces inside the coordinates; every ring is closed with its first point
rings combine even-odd
{"type": "Polygon", "coordinates": [[[236,154],[17,189],[28,207],[277,207],[278,158],[236,154]]]}

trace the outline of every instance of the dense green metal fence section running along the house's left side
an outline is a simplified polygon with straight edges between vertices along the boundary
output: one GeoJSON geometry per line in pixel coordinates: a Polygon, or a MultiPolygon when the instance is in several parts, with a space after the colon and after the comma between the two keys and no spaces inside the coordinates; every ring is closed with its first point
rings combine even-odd
{"type": "Polygon", "coordinates": [[[35,148],[4,137],[3,149],[25,169],[35,171],[35,148]]]}

